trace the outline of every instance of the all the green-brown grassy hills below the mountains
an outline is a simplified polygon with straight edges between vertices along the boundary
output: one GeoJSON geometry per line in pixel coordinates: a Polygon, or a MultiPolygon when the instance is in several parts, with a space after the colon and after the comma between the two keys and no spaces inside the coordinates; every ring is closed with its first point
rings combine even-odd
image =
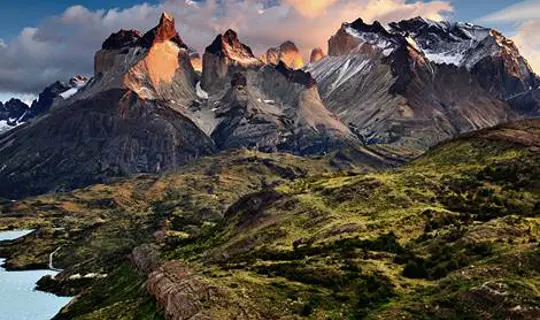
{"type": "Polygon", "coordinates": [[[70,272],[72,262],[107,269],[59,318],[540,317],[540,120],[470,134],[387,171],[331,172],[327,159],[290,156],[268,166],[259,157],[274,156],[227,162],[217,182],[191,176],[199,167],[5,212],[26,205],[44,225],[66,227],[51,231],[64,238],[45,239],[76,249],[77,257],[59,253],[70,272]],[[105,194],[117,210],[89,206],[105,194]],[[47,213],[53,202],[68,214],[47,213]],[[92,228],[101,231],[84,236],[92,228]],[[159,252],[150,270],[126,258],[142,243],[159,252]],[[85,261],[87,250],[107,263],[85,261]]]}

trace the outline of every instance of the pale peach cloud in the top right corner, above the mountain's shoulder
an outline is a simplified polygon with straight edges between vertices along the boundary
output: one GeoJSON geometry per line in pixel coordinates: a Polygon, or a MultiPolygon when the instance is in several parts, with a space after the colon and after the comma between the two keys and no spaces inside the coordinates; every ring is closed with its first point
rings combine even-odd
{"type": "Polygon", "coordinates": [[[540,2],[523,1],[482,17],[480,21],[514,24],[516,34],[512,40],[531,67],[540,71],[540,2]]]}

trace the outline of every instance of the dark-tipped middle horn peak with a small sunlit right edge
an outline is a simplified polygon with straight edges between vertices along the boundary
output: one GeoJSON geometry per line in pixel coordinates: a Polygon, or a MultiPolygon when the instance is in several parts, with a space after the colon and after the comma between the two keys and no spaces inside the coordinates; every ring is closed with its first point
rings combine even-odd
{"type": "Polygon", "coordinates": [[[237,71],[257,69],[263,62],[255,57],[250,47],[240,42],[233,30],[216,37],[203,55],[202,88],[209,93],[224,89],[237,71]]]}

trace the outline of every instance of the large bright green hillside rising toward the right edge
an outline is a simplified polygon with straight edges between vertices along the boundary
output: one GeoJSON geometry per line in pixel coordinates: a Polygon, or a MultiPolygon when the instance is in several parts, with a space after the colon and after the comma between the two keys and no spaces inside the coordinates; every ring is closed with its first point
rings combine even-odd
{"type": "Polygon", "coordinates": [[[398,170],[250,194],[163,257],[256,301],[263,318],[540,317],[539,129],[487,130],[398,170]]]}

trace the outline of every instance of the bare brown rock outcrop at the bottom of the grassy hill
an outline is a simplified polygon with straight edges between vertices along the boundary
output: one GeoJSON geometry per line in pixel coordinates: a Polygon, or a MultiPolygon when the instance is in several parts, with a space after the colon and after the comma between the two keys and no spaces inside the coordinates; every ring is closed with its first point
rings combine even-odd
{"type": "Polygon", "coordinates": [[[167,319],[263,319],[237,304],[226,288],[180,262],[167,262],[152,272],[146,287],[163,306],[167,319]]]}

